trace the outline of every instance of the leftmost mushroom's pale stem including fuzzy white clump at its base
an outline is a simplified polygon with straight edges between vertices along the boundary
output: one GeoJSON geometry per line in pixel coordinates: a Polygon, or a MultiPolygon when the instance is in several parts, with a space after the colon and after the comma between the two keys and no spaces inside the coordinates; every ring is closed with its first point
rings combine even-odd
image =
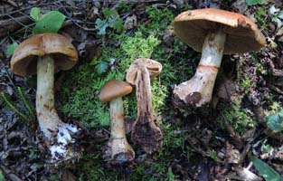
{"type": "Polygon", "coordinates": [[[52,159],[73,156],[68,151],[68,144],[72,142],[71,132],[78,129],[71,124],[61,121],[54,106],[54,60],[46,55],[37,61],[37,90],[36,114],[39,126],[45,138],[56,144],[50,148],[52,159]],[[58,132],[58,133],[57,133],[58,132]],[[56,141],[54,141],[57,139],[56,141]]]}

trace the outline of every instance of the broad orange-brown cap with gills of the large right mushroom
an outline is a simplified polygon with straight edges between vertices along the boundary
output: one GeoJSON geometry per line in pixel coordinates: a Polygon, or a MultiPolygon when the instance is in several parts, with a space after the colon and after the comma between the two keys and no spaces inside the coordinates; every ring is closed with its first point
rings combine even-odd
{"type": "Polygon", "coordinates": [[[220,9],[186,11],[172,22],[176,36],[197,52],[202,52],[207,33],[222,29],[226,33],[224,53],[257,51],[265,38],[250,18],[220,9]]]}

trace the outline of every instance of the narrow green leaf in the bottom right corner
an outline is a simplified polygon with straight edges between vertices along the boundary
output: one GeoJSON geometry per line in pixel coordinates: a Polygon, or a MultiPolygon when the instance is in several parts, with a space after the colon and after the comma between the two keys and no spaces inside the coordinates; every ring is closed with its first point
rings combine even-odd
{"type": "Polygon", "coordinates": [[[251,157],[251,161],[259,171],[259,174],[264,177],[266,181],[283,181],[283,178],[268,164],[261,161],[257,157],[251,157]]]}

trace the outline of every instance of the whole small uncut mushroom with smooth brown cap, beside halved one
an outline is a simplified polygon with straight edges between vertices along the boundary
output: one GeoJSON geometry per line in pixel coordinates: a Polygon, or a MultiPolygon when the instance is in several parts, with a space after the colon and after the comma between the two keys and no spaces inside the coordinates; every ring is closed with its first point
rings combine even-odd
{"type": "Polygon", "coordinates": [[[100,91],[99,100],[110,102],[111,138],[108,142],[111,163],[123,164],[132,161],[135,152],[127,143],[122,97],[132,92],[126,81],[107,81],[100,91]]]}

